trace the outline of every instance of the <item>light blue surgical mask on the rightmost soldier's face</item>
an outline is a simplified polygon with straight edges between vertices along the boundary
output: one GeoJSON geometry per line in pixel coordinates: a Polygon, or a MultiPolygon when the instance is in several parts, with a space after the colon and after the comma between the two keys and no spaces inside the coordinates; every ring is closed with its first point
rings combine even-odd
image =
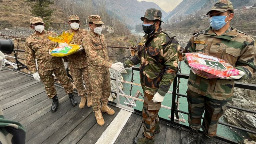
{"type": "MultiPolygon", "coordinates": [[[[229,16],[229,15],[227,15],[229,16]]],[[[210,25],[214,30],[219,30],[221,29],[224,25],[226,25],[229,21],[225,22],[225,19],[227,16],[223,15],[218,15],[218,16],[213,16],[209,19],[210,25]]]]}

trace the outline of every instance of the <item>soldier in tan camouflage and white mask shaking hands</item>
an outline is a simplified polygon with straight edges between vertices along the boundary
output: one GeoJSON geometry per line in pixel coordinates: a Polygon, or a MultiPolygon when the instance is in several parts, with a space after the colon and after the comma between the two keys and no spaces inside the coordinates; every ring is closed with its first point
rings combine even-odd
{"type": "Polygon", "coordinates": [[[101,16],[88,16],[90,32],[83,38],[82,46],[88,56],[89,82],[92,88],[92,107],[99,125],[104,125],[101,112],[114,115],[115,111],[108,107],[108,97],[111,92],[109,68],[122,72],[124,68],[118,64],[109,62],[106,40],[101,34],[104,24],[101,16]],[[101,102],[102,101],[102,106],[101,102]],[[100,109],[101,107],[101,109],[100,109]]]}

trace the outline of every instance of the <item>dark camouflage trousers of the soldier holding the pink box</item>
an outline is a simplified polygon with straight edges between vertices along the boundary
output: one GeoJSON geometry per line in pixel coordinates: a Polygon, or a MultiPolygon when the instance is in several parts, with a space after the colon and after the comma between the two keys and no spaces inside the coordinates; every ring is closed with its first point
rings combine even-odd
{"type": "Polygon", "coordinates": [[[202,126],[204,134],[209,137],[216,136],[218,120],[226,110],[228,101],[220,101],[200,95],[187,89],[188,123],[194,130],[202,126]],[[203,123],[201,118],[204,113],[203,123]]]}

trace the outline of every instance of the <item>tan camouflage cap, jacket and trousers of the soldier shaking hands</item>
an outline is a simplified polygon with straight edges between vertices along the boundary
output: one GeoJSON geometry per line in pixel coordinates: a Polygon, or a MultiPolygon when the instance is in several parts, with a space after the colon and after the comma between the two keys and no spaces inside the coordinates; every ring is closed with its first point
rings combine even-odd
{"type": "MultiPolygon", "coordinates": [[[[92,15],[88,17],[90,22],[94,24],[101,24],[101,17],[92,15]],[[97,22],[101,23],[97,23],[97,22]]],[[[89,82],[92,89],[92,107],[93,111],[100,110],[102,104],[107,104],[108,97],[110,95],[110,73],[109,68],[111,63],[109,62],[107,45],[103,34],[100,37],[94,33],[89,32],[82,39],[82,46],[84,47],[88,56],[88,67],[89,67],[89,82]]]]}

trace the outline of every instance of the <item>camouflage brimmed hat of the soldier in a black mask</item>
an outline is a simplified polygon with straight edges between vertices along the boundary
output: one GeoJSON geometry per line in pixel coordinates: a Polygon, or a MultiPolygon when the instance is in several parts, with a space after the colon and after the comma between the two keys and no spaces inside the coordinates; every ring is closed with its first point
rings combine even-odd
{"type": "Polygon", "coordinates": [[[140,20],[143,21],[143,19],[146,18],[150,21],[153,21],[153,20],[160,20],[161,22],[162,21],[162,12],[161,10],[159,9],[156,9],[156,8],[149,8],[146,10],[145,12],[145,15],[144,17],[140,17],[140,20]]]}

